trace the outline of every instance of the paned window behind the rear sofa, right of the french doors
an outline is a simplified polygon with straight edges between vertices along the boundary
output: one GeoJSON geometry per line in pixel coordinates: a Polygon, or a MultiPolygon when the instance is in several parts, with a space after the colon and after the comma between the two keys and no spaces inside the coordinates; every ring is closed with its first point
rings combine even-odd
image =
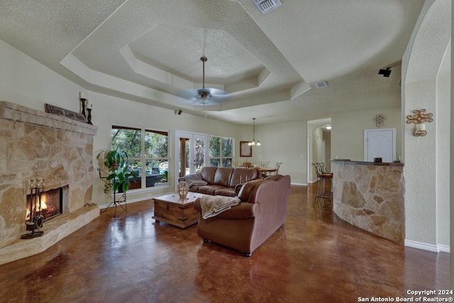
{"type": "Polygon", "coordinates": [[[209,137],[210,166],[232,167],[233,163],[233,138],[209,137]]]}

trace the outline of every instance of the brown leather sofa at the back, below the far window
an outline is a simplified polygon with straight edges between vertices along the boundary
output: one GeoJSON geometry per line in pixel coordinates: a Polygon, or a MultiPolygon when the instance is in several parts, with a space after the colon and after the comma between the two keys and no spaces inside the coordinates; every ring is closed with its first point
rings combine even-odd
{"type": "MultiPolygon", "coordinates": [[[[193,185],[189,187],[189,191],[213,196],[235,197],[242,184],[250,180],[262,179],[262,173],[258,168],[205,166],[201,167],[199,174],[201,175],[201,180],[207,184],[193,185]]],[[[187,175],[187,177],[190,176],[187,175]]],[[[182,177],[179,180],[184,181],[185,179],[182,177]]]]}

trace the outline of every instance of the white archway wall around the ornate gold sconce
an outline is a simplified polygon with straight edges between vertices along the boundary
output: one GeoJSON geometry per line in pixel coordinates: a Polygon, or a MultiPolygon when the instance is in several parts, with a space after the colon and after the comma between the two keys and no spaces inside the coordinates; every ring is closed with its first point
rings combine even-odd
{"type": "Polygon", "coordinates": [[[443,230],[441,224],[449,222],[449,202],[441,200],[449,197],[450,182],[444,176],[450,150],[441,141],[441,132],[450,128],[450,116],[441,113],[450,109],[438,90],[445,80],[438,77],[442,65],[450,64],[443,61],[450,45],[450,23],[451,1],[427,0],[402,60],[406,245],[429,250],[449,247],[449,228],[443,230]],[[427,136],[413,136],[414,125],[405,123],[415,109],[434,115],[434,122],[426,125],[427,136]]]}

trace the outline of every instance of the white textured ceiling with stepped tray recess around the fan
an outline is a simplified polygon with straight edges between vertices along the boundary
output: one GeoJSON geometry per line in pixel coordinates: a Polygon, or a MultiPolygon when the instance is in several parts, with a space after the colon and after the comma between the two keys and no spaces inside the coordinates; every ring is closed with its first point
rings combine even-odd
{"type": "Polygon", "coordinates": [[[87,90],[233,123],[314,120],[400,104],[422,4],[282,0],[262,15],[252,0],[3,0],[0,39],[87,90]],[[228,93],[208,106],[187,97],[201,55],[206,87],[228,93]]]}

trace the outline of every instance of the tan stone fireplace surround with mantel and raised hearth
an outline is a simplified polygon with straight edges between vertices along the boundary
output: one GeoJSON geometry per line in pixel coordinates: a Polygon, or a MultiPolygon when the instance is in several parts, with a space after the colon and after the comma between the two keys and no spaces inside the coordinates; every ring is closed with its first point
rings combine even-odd
{"type": "Polygon", "coordinates": [[[96,130],[0,101],[0,264],[40,253],[99,216],[97,206],[84,206],[92,202],[96,130]],[[33,178],[45,179],[45,191],[63,189],[61,215],[45,221],[43,236],[23,240],[33,178]]]}

